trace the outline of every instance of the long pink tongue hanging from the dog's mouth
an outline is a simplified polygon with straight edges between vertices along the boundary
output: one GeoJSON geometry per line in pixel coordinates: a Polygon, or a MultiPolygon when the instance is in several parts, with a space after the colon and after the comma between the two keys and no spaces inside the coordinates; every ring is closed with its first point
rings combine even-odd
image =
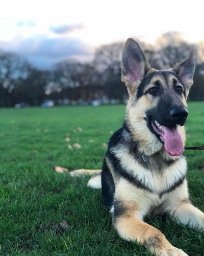
{"type": "Polygon", "coordinates": [[[164,129],[164,147],[170,156],[180,156],[183,153],[184,145],[177,127],[166,127],[164,129]]]}

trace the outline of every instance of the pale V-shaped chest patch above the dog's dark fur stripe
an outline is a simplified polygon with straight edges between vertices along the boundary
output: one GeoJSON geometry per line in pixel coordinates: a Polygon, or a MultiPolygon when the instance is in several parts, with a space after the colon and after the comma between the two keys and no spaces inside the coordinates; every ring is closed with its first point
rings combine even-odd
{"type": "Polygon", "coordinates": [[[161,158],[147,158],[145,161],[123,153],[120,160],[127,173],[152,193],[161,194],[179,182],[186,173],[186,159],[181,157],[176,161],[166,161],[161,158]]]}

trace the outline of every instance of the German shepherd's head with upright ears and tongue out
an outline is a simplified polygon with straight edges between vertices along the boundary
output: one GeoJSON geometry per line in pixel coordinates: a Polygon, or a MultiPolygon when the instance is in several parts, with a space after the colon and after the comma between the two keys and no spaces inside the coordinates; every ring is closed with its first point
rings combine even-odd
{"type": "Polygon", "coordinates": [[[137,42],[127,39],[121,71],[121,80],[130,96],[126,122],[143,145],[145,154],[154,154],[163,145],[170,156],[183,153],[186,100],[194,70],[193,56],[168,70],[152,69],[137,42]]]}

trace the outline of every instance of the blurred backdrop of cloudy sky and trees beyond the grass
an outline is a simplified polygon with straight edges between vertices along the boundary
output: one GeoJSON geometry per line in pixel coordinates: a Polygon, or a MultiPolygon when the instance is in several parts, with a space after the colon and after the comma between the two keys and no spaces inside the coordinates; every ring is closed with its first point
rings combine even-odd
{"type": "Polygon", "coordinates": [[[0,17],[0,106],[127,101],[121,51],[136,39],[151,67],[196,56],[189,100],[204,100],[200,1],[6,1],[0,17]]]}

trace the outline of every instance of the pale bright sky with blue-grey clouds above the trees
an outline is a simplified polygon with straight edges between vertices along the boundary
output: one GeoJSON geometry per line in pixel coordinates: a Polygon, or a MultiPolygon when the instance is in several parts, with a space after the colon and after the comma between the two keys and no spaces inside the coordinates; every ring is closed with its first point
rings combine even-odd
{"type": "Polygon", "coordinates": [[[120,0],[7,0],[1,5],[0,49],[37,68],[77,58],[88,61],[100,45],[139,38],[155,44],[170,31],[204,40],[204,2],[120,0]]]}

